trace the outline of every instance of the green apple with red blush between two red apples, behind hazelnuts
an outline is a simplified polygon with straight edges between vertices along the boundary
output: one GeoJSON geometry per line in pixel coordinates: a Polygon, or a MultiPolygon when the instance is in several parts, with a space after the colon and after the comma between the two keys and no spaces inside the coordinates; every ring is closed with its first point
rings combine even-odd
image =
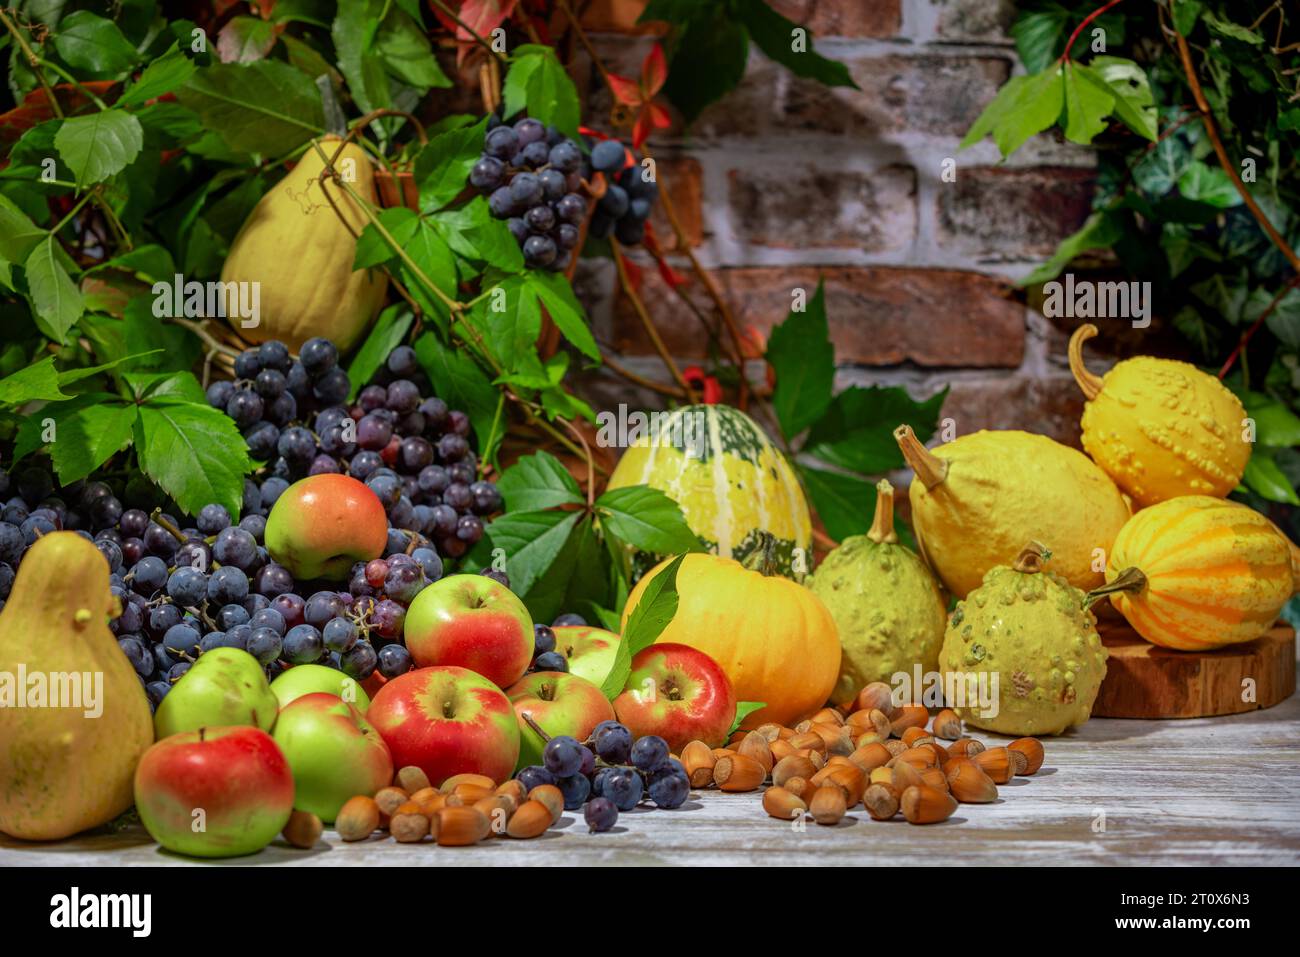
{"type": "Polygon", "coordinates": [[[355,794],[373,794],[393,781],[393,755],[356,706],[312,692],[276,719],[276,744],[294,772],[294,807],[325,823],[355,794]]]}

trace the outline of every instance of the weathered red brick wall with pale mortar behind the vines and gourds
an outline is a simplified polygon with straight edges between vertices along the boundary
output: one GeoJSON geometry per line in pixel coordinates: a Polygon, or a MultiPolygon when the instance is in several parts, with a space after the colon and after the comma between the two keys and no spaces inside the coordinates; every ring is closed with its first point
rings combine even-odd
{"type": "MultiPolygon", "coordinates": [[[[1082,402],[1065,334],[1010,287],[1087,217],[1092,155],[1040,137],[1006,164],[991,142],[958,152],[998,86],[1022,69],[1004,0],[772,0],[861,90],[827,90],[751,55],[744,83],[689,131],[651,143],[702,263],[740,321],[766,333],[790,291],[826,281],[837,385],[902,384],[918,398],[949,385],[962,433],[1024,428],[1078,438],[1082,402]],[[957,163],[956,181],[942,178],[957,163]]],[[[653,36],[629,25],[641,0],[589,12],[608,66],[636,75],[653,36]]],[[[589,114],[610,98],[589,82],[589,114]]],[[[671,237],[662,215],[658,234],[671,237]]],[[[670,244],[671,243],[666,243],[670,244]]],[[[644,296],[680,359],[705,348],[698,319],[649,259],[644,296]]],[[[685,260],[673,254],[685,268],[685,260]]],[[[612,263],[577,277],[597,335],[632,371],[667,380],[612,263]]],[[[708,308],[698,283],[689,287],[708,308]]],[[[757,371],[755,371],[757,372],[757,371]]],[[[628,400],[625,380],[588,382],[598,403],[628,400]]],[[[662,403],[649,394],[637,397],[662,403]]]]}

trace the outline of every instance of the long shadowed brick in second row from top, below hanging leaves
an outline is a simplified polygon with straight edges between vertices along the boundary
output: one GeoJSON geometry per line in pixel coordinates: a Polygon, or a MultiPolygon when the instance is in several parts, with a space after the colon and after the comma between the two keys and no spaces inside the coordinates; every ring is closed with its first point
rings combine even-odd
{"type": "Polygon", "coordinates": [[[958,137],[997,95],[1011,70],[1004,56],[892,53],[845,62],[859,90],[826,87],[754,56],[741,86],[708,107],[692,133],[879,137],[907,130],[958,137]]]}

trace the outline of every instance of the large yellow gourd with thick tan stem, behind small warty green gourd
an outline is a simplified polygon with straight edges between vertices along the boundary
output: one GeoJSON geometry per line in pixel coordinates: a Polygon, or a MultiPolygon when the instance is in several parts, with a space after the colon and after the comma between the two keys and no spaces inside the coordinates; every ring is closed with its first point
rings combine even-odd
{"type": "Polygon", "coordinates": [[[916,544],[956,597],[965,598],[989,568],[1009,564],[1035,540],[1075,588],[1102,583],[1128,506],[1087,455],[1015,430],[975,432],[933,451],[907,425],[894,439],[916,473],[909,493],[916,544]]]}

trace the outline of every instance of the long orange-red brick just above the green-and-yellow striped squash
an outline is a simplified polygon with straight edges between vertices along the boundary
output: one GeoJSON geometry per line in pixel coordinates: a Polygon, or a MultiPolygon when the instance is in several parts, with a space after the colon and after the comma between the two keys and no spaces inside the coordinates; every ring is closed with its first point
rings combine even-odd
{"type": "MultiPolygon", "coordinates": [[[[1015,368],[1024,355],[1024,307],[1005,282],[957,269],[897,267],[759,267],[722,269],[714,276],[741,328],[767,335],[790,309],[796,287],[826,282],[827,316],[840,363],[936,368],[1015,368]]],[[[656,270],[644,270],[641,290],[670,352],[685,359],[707,354],[699,320],[667,290],[656,270]]],[[[699,282],[688,291],[706,313],[711,303],[699,282]]],[[[624,355],[651,355],[645,330],[627,298],[618,294],[612,329],[603,341],[624,355]]]]}

